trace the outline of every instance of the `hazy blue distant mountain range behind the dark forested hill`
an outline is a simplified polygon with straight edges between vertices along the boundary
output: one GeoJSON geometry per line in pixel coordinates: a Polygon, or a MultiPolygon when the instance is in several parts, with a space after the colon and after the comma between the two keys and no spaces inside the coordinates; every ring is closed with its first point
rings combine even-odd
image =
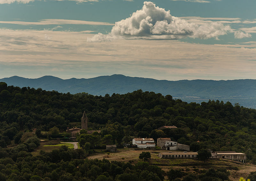
{"type": "Polygon", "coordinates": [[[92,95],[113,93],[125,94],[136,91],[153,91],[163,95],[172,95],[186,102],[211,100],[239,103],[244,107],[256,108],[256,80],[179,80],[167,81],[151,78],[129,77],[124,75],[99,76],[89,79],[61,79],[54,76],[43,76],[36,79],[12,76],[2,78],[0,82],[19,87],[42,88],[47,91],[58,91],[71,94],[88,92],[92,95]]]}

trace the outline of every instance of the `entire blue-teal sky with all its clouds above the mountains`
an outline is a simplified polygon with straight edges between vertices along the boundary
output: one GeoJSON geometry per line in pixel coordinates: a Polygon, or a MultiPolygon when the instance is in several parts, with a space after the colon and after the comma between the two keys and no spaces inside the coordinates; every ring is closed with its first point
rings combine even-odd
{"type": "Polygon", "coordinates": [[[0,0],[0,78],[256,79],[255,0],[0,0]]]}

